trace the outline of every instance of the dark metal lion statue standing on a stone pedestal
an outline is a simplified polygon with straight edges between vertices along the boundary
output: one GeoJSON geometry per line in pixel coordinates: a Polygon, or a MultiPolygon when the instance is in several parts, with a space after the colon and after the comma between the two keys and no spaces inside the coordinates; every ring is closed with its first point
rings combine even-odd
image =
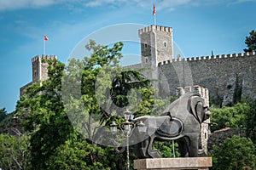
{"type": "Polygon", "coordinates": [[[198,94],[183,94],[169,105],[160,116],[140,116],[134,123],[143,122],[146,132],[134,131],[137,138],[134,151],[138,158],[161,157],[159,150],[152,150],[154,141],[176,140],[182,157],[196,157],[199,152],[201,123],[210,116],[205,99],[198,94]]]}

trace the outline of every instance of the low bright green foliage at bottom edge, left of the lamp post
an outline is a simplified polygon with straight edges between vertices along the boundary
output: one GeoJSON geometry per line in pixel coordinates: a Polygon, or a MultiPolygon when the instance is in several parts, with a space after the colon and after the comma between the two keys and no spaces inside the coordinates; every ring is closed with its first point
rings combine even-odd
{"type": "MultiPolygon", "coordinates": [[[[113,147],[99,147],[73,133],[73,138],[56,148],[55,155],[49,161],[51,169],[119,169],[113,147]]],[[[49,168],[49,169],[50,169],[49,168]]]]}

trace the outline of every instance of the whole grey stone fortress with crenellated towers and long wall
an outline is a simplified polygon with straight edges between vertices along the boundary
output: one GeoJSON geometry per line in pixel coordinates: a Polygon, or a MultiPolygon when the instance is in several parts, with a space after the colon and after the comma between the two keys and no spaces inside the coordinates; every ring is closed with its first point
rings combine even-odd
{"type": "MultiPolygon", "coordinates": [[[[138,36],[141,63],[127,67],[149,67],[156,70],[156,74],[149,71],[149,76],[160,80],[166,78],[166,84],[158,84],[160,94],[165,94],[161,89],[168,89],[173,96],[197,90],[207,103],[209,99],[215,99],[222,101],[222,105],[235,104],[245,96],[256,99],[255,52],[194,58],[182,58],[177,54],[174,58],[172,27],[147,26],[138,31],[138,36]]],[[[42,59],[56,59],[56,56],[32,58],[32,82],[20,88],[20,96],[27,86],[48,78],[48,64],[42,59]]],[[[202,125],[201,130],[201,148],[205,152],[210,133],[208,123],[202,125]]]]}

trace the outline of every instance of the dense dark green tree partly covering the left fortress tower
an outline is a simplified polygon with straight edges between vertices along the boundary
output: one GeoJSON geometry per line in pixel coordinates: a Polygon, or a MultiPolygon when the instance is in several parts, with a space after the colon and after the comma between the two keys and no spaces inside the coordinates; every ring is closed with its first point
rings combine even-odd
{"type": "Polygon", "coordinates": [[[46,169],[55,148],[63,144],[73,127],[61,101],[61,77],[64,65],[57,59],[47,59],[49,79],[26,89],[16,109],[26,132],[30,133],[30,165],[46,169]]]}

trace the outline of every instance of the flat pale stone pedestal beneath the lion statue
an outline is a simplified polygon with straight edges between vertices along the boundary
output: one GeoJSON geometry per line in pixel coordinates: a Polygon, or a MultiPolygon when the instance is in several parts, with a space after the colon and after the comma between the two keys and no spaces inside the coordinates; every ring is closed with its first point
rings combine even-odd
{"type": "Polygon", "coordinates": [[[212,157],[151,158],[134,160],[134,169],[137,170],[202,170],[208,169],[208,167],[212,167],[212,157]]]}

